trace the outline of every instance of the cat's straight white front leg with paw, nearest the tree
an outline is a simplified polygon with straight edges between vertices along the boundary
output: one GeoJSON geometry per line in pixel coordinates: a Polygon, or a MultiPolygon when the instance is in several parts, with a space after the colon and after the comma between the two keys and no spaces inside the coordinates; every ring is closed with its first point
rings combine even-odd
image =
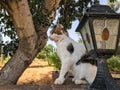
{"type": "Polygon", "coordinates": [[[54,84],[63,84],[65,81],[65,75],[69,69],[70,69],[69,64],[66,63],[62,64],[59,77],[54,81],[54,84]]]}

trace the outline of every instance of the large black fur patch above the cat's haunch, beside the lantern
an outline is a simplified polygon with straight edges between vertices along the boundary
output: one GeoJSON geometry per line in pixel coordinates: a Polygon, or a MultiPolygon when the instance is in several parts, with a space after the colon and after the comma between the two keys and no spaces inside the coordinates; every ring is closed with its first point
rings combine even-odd
{"type": "Polygon", "coordinates": [[[90,55],[83,55],[82,58],[80,60],[77,61],[76,65],[79,65],[80,63],[90,63],[92,65],[96,65],[97,66],[97,61],[92,58],[90,55]]]}

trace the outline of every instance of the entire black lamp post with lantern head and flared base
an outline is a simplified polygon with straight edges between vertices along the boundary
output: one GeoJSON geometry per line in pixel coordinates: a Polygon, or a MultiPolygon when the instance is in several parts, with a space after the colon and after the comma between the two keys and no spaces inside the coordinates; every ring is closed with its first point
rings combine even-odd
{"type": "Polygon", "coordinates": [[[106,5],[92,5],[76,31],[81,33],[88,53],[97,60],[97,74],[89,90],[120,90],[106,64],[106,59],[117,50],[120,14],[106,5]]]}

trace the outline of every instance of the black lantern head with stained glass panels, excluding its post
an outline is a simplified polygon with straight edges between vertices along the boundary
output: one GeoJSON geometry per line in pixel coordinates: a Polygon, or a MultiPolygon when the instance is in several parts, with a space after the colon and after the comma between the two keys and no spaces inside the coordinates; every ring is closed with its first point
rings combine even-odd
{"type": "Polygon", "coordinates": [[[117,49],[120,15],[106,5],[93,5],[85,13],[76,31],[82,35],[87,51],[99,57],[111,56],[117,49]]]}

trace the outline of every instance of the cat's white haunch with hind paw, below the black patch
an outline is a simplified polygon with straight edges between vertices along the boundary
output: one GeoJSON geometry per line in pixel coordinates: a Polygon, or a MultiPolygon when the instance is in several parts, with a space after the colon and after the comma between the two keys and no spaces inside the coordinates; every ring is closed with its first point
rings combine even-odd
{"type": "Polygon", "coordinates": [[[85,84],[85,82],[81,81],[81,79],[84,78],[89,84],[92,84],[96,76],[96,72],[96,66],[93,66],[90,63],[80,63],[80,65],[74,66],[74,78],[72,81],[74,81],[75,84],[85,84]]]}

